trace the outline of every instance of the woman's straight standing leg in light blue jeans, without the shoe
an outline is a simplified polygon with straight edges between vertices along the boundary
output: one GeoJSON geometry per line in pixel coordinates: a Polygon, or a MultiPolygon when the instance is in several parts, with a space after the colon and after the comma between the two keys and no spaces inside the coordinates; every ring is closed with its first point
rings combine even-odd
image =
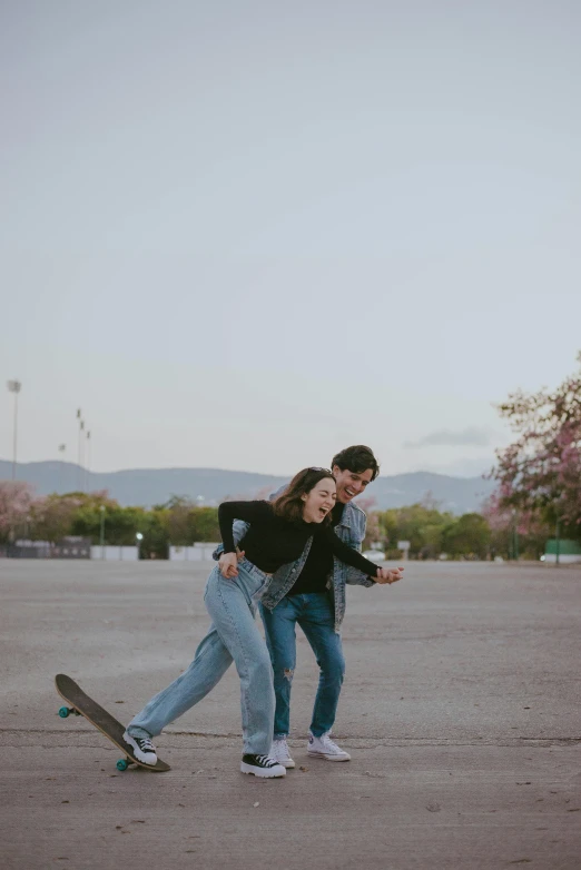
{"type": "Polygon", "coordinates": [[[238,564],[235,580],[213,572],[206,589],[206,607],[240,678],[244,752],[268,755],[275,695],[268,650],[254,621],[253,595],[260,585],[244,563],[238,564]]]}

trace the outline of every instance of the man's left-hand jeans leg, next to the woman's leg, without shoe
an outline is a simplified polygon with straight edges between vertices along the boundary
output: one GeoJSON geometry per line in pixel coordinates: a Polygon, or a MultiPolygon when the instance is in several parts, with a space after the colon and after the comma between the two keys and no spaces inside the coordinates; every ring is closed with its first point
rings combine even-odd
{"type": "Polygon", "coordinates": [[[283,599],[274,610],[260,605],[266,645],[270,653],[276,696],[274,740],[290,733],[290,689],[296,668],[296,621],[299,595],[283,599]]]}

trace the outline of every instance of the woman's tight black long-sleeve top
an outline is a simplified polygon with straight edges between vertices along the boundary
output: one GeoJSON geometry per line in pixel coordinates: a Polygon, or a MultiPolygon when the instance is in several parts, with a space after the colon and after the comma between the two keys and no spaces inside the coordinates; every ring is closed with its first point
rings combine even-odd
{"type": "Polygon", "coordinates": [[[322,536],[333,555],[341,562],[363,571],[371,577],[377,576],[377,565],[344,544],[326,523],[284,520],[282,516],[276,516],[270,502],[223,502],[220,504],[218,521],[225,553],[236,552],[232,528],[235,520],[250,523],[238,546],[245,551],[249,562],[267,574],[274,574],[280,565],[299,558],[306,542],[314,535],[322,536]]]}

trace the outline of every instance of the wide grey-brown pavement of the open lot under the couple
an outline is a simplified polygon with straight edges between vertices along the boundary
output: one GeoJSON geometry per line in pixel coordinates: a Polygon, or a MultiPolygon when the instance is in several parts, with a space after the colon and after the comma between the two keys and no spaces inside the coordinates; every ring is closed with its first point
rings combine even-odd
{"type": "Polygon", "coordinates": [[[53,676],[127,722],[189,664],[209,567],[0,560],[2,870],[581,868],[581,569],[411,562],[349,589],[351,762],[307,757],[298,632],[284,780],[239,773],[234,669],[156,741],[169,772],[120,773],[53,676]]]}

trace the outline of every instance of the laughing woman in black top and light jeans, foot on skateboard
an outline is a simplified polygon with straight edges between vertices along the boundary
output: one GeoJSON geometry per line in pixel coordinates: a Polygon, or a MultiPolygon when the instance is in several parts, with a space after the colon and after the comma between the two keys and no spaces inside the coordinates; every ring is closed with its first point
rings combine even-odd
{"type": "Polygon", "coordinates": [[[266,644],[256,627],[255,603],[280,565],[297,560],[309,538],[323,538],[348,565],[383,579],[385,570],[344,544],[329,526],[336,485],[327,468],[304,468],[274,502],[224,502],[218,508],[225,554],[208,577],[204,600],[213,625],[187,671],[152,698],[129,723],[125,740],[147,764],[157,761],[151,738],[201,700],[234,660],[240,678],[243,773],[284,777],[286,769],[268,754],[275,694],[266,644]],[[233,521],[250,527],[238,561],[233,521]]]}

